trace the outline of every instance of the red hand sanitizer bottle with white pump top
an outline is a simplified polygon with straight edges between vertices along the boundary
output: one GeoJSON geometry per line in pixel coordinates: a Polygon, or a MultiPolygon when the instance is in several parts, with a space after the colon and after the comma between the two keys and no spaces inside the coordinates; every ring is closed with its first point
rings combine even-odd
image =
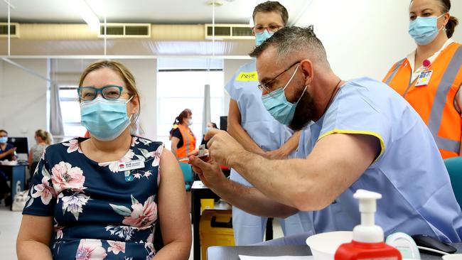
{"type": "Polygon", "coordinates": [[[341,244],[335,251],[335,260],[402,260],[398,249],[385,244],[382,227],[375,225],[377,200],[382,195],[357,190],[353,197],[360,200],[361,224],[353,229],[353,241],[341,244]]]}

